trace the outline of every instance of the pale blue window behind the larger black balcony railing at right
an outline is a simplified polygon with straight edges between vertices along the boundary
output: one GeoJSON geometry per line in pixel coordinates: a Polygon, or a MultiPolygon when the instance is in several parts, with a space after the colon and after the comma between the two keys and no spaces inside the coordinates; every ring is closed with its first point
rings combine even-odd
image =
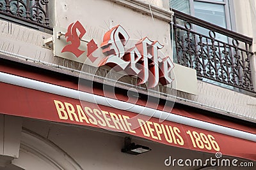
{"type": "MultiPolygon", "coordinates": [[[[230,1],[232,0],[170,0],[170,7],[211,24],[231,29],[230,1]]],[[[243,59],[239,57],[245,56],[246,52],[238,52],[232,38],[216,31],[212,32],[212,29],[205,29],[200,24],[191,24],[188,28],[188,23],[184,20],[175,19],[175,24],[179,27],[176,26],[173,38],[173,48],[176,49],[174,62],[196,69],[198,78],[203,81],[228,89],[243,86],[243,59]]]]}

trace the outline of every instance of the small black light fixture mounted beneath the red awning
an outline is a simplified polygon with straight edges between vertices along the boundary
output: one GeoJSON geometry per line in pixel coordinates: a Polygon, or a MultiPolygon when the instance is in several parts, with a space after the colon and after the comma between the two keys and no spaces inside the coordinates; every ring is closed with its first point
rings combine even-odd
{"type": "Polygon", "coordinates": [[[124,148],[122,148],[122,152],[129,153],[132,155],[138,155],[141,153],[145,153],[150,151],[151,149],[147,146],[135,145],[135,143],[131,143],[131,138],[125,137],[124,139],[124,148]]]}

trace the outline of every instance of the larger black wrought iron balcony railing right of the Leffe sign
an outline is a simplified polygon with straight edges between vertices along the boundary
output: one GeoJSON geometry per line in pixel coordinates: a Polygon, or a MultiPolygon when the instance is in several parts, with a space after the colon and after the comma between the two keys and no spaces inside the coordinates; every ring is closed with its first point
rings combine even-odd
{"type": "Polygon", "coordinates": [[[173,11],[175,62],[196,69],[203,81],[254,92],[250,68],[252,38],[173,11]]]}

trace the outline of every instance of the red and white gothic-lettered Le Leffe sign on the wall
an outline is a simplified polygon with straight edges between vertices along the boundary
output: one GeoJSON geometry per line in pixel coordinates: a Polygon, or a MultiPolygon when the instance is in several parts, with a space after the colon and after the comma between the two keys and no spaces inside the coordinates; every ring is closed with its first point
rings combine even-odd
{"type": "Polygon", "coordinates": [[[85,59],[81,60],[81,58],[86,55],[94,66],[95,64],[98,67],[109,66],[115,71],[125,71],[131,76],[138,76],[138,85],[148,82],[148,89],[156,87],[158,83],[162,85],[172,83],[171,72],[174,64],[170,57],[159,55],[159,50],[164,46],[158,41],[151,41],[145,37],[136,41],[134,46],[127,48],[130,37],[121,25],[106,32],[100,46],[94,39],[83,40],[85,34],[86,29],[81,22],[70,24],[67,32],[58,33],[57,39],[61,41],[54,41],[55,44],[58,42],[60,44],[55,45],[54,50],[58,52],[54,52],[54,55],[83,63],[85,59]],[[99,50],[103,57],[97,56],[99,50]]]}

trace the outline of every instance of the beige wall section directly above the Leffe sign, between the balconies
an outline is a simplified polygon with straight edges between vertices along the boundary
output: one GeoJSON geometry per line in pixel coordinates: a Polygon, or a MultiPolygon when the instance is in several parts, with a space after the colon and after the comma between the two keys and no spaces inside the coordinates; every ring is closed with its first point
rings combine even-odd
{"type": "MultiPolygon", "coordinates": [[[[159,3],[160,1],[154,2],[156,5],[163,6],[163,3],[159,3]]],[[[152,11],[154,10],[154,7],[152,6],[151,8],[148,6],[147,2],[138,5],[136,3],[130,3],[129,1],[118,1],[117,3],[113,3],[113,1],[106,0],[78,0],[76,1],[76,4],[74,4],[74,1],[68,0],[56,1],[56,17],[54,19],[55,25],[63,28],[64,32],[65,30],[67,31],[68,25],[79,20],[87,31],[84,35],[84,39],[88,41],[93,39],[98,46],[102,43],[103,36],[106,32],[116,25],[121,25],[130,36],[129,43],[131,43],[131,45],[127,45],[127,48],[134,46],[140,39],[148,37],[150,40],[157,40],[164,45],[164,48],[161,49],[163,55],[171,56],[170,26],[168,22],[157,18],[157,16],[155,16],[156,12],[153,13],[152,11],[152,15],[151,13],[148,13],[150,9],[152,11]],[[133,10],[131,10],[131,8],[133,8],[133,10]]],[[[163,12],[171,13],[170,11],[163,12]]],[[[163,14],[160,12],[158,15],[163,14]]],[[[170,18],[171,17],[168,19],[170,20],[170,18]]],[[[61,40],[65,43],[65,39],[61,40]]],[[[61,51],[59,48],[56,50],[61,51]]],[[[70,56],[70,53],[61,53],[61,55],[69,59],[70,57],[74,60],[77,59],[73,55],[70,56]]],[[[100,54],[97,56],[99,55],[100,54]]],[[[85,63],[97,66],[103,57],[104,55],[98,57],[93,63],[90,62],[90,60],[86,60],[85,63]]],[[[83,56],[79,58],[85,60],[86,54],[83,54],[83,56]]],[[[82,62],[84,62],[84,60],[82,62]]]]}

